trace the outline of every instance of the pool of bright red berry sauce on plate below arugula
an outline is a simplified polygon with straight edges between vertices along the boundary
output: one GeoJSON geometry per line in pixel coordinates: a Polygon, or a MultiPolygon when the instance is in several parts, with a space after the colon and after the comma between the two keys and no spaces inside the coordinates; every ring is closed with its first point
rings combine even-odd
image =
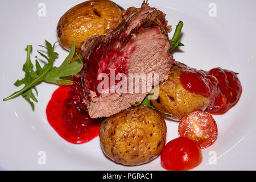
{"type": "Polygon", "coordinates": [[[98,137],[101,119],[90,118],[82,104],[84,93],[79,79],[72,86],[60,86],[48,103],[49,124],[70,143],[81,144],[98,137]]]}

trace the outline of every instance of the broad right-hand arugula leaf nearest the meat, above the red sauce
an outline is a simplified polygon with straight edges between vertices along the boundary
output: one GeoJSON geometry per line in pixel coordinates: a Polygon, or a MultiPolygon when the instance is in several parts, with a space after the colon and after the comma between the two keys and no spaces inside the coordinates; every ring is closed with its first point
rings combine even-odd
{"type": "Polygon", "coordinates": [[[63,61],[60,67],[53,67],[52,70],[47,74],[47,76],[44,77],[44,81],[51,82],[57,85],[72,85],[73,81],[61,79],[61,77],[73,76],[81,71],[83,67],[81,56],[79,56],[79,59],[77,59],[75,62],[70,63],[74,53],[75,43],[73,43],[68,57],[63,61]]]}

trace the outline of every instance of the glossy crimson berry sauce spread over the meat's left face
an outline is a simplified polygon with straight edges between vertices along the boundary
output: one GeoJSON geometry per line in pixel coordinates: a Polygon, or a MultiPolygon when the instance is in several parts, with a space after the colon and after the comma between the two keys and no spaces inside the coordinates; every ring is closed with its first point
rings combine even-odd
{"type": "Polygon", "coordinates": [[[123,42],[126,38],[127,35],[125,31],[120,31],[118,38],[113,37],[107,42],[98,43],[88,55],[83,57],[84,68],[81,71],[81,75],[84,76],[86,94],[89,95],[91,90],[96,92],[97,96],[100,96],[97,88],[98,84],[101,82],[101,80],[98,80],[100,73],[106,73],[109,76],[110,68],[115,69],[115,75],[118,73],[127,73],[127,57],[124,52],[117,50],[118,44],[123,42]],[[115,59],[119,61],[115,63],[115,59]]]}

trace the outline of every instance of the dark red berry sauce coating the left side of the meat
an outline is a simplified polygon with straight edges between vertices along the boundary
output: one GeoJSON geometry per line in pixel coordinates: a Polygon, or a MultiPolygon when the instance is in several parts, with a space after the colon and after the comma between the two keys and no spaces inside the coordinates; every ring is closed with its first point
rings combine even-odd
{"type": "MultiPolygon", "coordinates": [[[[144,31],[144,28],[140,28],[134,34],[139,34],[144,31]]],[[[115,80],[115,76],[118,73],[128,74],[127,60],[131,53],[135,51],[134,40],[130,37],[131,35],[126,34],[126,30],[118,32],[118,35],[112,36],[104,42],[98,43],[89,53],[84,55],[84,68],[81,71],[81,75],[84,77],[85,82],[85,93],[88,100],[90,91],[96,92],[97,96],[100,97],[101,94],[98,92],[98,84],[102,80],[98,80],[98,75],[101,73],[106,73],[109,76],[109,88],[115,86],[121,80],[115,80]],[[122,44],[122,49],[120,49],[120,44],[122,44]],[[110,69],[115,70],[113,85],[110,85],[110,69]]],[[[102,88],[106,89],[106,88],[102,88]]]]}

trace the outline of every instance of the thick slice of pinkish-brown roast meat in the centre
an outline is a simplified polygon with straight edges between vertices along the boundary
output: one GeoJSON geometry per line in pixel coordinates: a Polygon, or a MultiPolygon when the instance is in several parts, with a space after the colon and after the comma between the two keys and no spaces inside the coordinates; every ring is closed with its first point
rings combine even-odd
{"type": "Polygon", "coordinates": [[[110,117],[119,113],[135,102],[142,102],[148,90],[146,93],[142,93],[140,89],[139,93],[98,94],[96,87],[92,89],[92,86],[88,86],[92,81],[88,79],[88,75],[95,77],[102,73],[103,69],[115,68],[115,65],[125,59],[122,64],[125,64],[127,81],[134,81],[129,77],[129,73],[152,73],[153,83],[155,73],[159,75],[159,83],[168,80],[174,63],[173,56],[168,51],[171,48],[169,31],[170,26],[167,27],[165,14],[143,2],[141,8],[129,7],[115,30],[106,32],[106,35],[92,36],[82,43],[86,68],[81,72],[81,79],[85,85],[84,102],[90,117],[110,117]],[[102,61],[112,51],[118,51],[117,55],[121,53],[121,56],[114,56],[108,63],[102,61]]]}

